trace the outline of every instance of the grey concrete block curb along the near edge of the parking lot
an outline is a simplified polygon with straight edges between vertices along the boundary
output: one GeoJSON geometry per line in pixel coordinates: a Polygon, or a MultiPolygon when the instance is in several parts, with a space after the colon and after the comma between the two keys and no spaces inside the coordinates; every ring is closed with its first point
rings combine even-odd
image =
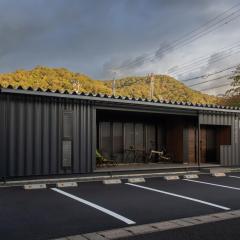
{"type": "Polygon", "coordinates": [[[149,234],[154,232],[167,231],[171,229],[184,228],[189,226],[200,225],[204,223],[213,223],[223,220],[240,218],[240,210],[220,212],[208,215],[201,215],[189,218],[180,218],[176,220],[150,223],[144,225],[135,225],[132,227],[111,229],[106,231],[81,234],[76,236],[68,236],[55,240],[112,240],[137,235],[149,234]]]}

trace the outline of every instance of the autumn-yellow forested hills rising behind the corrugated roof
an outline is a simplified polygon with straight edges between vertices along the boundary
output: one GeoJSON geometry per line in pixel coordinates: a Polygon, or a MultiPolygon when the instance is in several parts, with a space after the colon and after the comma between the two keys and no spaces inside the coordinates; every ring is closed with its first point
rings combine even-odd
{"type": "MultiPolygon", "coordinates": [[[[94,80],[84,74],[74,73],[65,68],[42,66],[37,66],[32,70],[2,73],[0,74],[0,84],[52,90],[74,90],[77,85],[81,92],[112,93],[112,81],[94,80]]],[[[218,101],[216,97],[194,91],[176,79],[165,75],[155,76],[154,86],[154,98],[158,99],[193,103],[216,103],[218,101]]],[[[149,80],[147,77],[126,77],[116,80],[116,94],[148,98],[149,80]]]]}

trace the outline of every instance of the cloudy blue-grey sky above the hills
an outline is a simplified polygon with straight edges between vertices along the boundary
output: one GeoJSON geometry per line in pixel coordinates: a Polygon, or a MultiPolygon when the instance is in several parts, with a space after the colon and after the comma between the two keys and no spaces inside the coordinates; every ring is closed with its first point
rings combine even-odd
{"type": "Polygon", "coordinates": [[[239,24],[236,0],[0,0],[0,72],[43,65],[103,80],[152,72],[221,94],[229,87],[214,87],[228,76],[203,82],[231,71],[185,80],[240,62],[239,24]]]}

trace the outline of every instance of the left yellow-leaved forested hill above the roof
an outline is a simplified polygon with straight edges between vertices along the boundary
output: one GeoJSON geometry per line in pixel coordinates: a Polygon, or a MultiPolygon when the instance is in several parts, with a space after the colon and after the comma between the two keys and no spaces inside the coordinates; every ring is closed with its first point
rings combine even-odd
{"type": "Polygon", "coordinates": [[[111,89],[101,81],[74,73],[66,68],[50,68],[37,66],[32,70],[17,70],[12,73],[0,74],[0,84],[3,86],[22,86],[51,90],[73,90],[72,81],[78,82],[80,92],[111,93],[111,89]]]}

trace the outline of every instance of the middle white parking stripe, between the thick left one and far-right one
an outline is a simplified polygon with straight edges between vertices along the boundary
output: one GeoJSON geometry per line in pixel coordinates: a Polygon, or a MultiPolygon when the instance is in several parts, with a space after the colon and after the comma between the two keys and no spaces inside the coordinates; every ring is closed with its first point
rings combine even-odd
{"type": "Polygon", "coordinates": [[[171,193],[171,192],[166,192],[166,191],[162,191],[162,190],[155,189],[155,188],[150,188],[150,187],[144,187],[144,186],[137,185],[137,184],[132,184],[132,183],[126,183],[126,184],[127,184],[127,185],[130,185],[130,186],[133,186],[133,187],[142,188],[142,189],[145,189],[145,190],[149,190],[149,191],[153,191],[153,192],[157,192],[157,193],[166,194],[166,195],[170,195],[170,196],[173,196],[173,197],[178,197],[178,198],[186,199],[186,200],[193,201],[193,202],[202,203],[202,204],[205,204],[205,205],[208,205],[208,206],[212,206],[212,207],[215,207],[215,208],[220,208],[220,209],[223,209],[223,210],[226,210],[226,211],[231,210],[231,209],[228,208],[228,207],[224,207],[224,206],[221,206],[221,205],[218,205],[218,204],[214,204],[214,203],[202,201],[202,200],[199,200],[199,199],[196,199],[196,198],[187,197],[187,196],[180,195],[180,194],[175,194],[175,193],[171,193]]]}

